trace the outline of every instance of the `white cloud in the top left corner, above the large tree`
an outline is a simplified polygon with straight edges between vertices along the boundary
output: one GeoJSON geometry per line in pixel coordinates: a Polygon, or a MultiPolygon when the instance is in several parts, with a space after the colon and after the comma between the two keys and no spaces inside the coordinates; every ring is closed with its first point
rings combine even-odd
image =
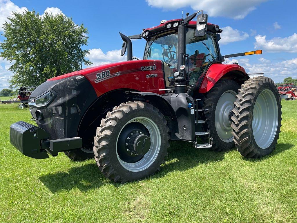
{"type": "Polygon", "coordinates": [[[3,31],[3,23],[7,20],[7,17],[12,15],[12,12],[23,12],[28,10],[26,7],[18,7],[9,0],[0,0],[0,32],[3,31]]]}

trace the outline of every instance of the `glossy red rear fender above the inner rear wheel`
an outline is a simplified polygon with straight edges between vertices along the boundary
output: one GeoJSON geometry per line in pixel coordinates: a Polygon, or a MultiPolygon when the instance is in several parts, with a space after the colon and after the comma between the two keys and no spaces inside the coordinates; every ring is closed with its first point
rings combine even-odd
{"type": "Polygon", "coordinates": [[[199,93],[208,92],[221,78],[232,79],[238,84],[243,84],[249,76],[244,68],[237,64],[212,64],[201,82],[199,93]]]}

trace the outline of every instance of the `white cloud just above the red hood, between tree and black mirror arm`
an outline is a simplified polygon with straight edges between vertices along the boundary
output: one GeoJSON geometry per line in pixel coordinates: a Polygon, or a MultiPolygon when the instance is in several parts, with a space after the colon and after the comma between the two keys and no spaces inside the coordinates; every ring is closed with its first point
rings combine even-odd
{"type": "Polygon", "coordinates": [[[121,50],[107,51],[105,54],[100,48],[90,49],[90,53],[87,57],[93,62],[92,66],[127,60],[127,56],[121,56],[121,50]]]}

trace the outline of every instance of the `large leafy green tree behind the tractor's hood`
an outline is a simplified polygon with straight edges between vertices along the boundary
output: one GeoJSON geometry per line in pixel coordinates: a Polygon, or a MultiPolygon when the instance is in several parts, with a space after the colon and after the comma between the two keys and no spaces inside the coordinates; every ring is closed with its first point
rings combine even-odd
{"type": "Polygon", "coordinates": [[[46,79],[73,72],[89,53],[81,47],[87,45],[87,29],[76,25],[64,14],[44,16],[26,11],[13,12],[10,22],[3,25],[6,40],[0,43],[0,56],[14,62],[9,68],[14,75],[12,85],[39,85],[46,79]]]}

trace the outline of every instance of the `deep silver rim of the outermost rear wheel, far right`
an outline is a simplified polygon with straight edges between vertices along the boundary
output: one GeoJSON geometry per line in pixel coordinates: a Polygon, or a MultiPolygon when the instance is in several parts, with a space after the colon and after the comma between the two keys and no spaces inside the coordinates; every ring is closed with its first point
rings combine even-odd
{"type": "Polygon", "coordinates": [[[253,109],[252,128],[257,145],[266,149],[277,132],[277,100],[271,90],[265,89],[258,96],[253,109]]]}

